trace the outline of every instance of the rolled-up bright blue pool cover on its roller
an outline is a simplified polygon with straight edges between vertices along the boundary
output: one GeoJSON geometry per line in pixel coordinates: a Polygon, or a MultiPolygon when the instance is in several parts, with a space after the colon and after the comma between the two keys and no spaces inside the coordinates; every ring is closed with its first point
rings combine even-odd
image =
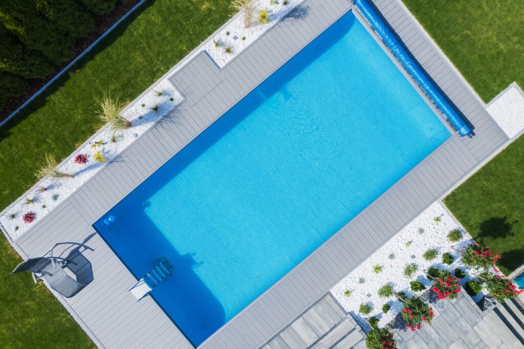
{"type": "Polygon", "coordinates": [[[462,117],[459,116],[453,107],[444,99],[444,96],[436,89],[435,85],[429,80],[428,76],[419,68],[418,64],[411,58],[410,54],[398,42],[395,35],[388,29],[384,21],[377,14],[375,9],[366,0],[355,0],[355,4],[366,16],[380,37],[384,40],[391,52],[395,54],[402,66],[418,82],[425,93],[430,96],[436,106],[447,116],[451,123],[459,130],[461,136],[471,134],[471,129],[466,125],[462,117]]]}

